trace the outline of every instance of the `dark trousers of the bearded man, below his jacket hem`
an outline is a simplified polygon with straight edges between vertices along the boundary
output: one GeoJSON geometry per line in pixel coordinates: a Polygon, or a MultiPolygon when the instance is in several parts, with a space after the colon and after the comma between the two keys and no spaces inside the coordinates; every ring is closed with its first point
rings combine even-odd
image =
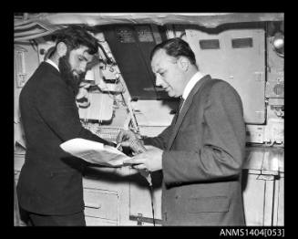
{"type": "Polygon", "coordinates": [[[67,215],[44,215],[20,208],[21,219],[28,226],[86,226],[84,212],[67,215]]]}

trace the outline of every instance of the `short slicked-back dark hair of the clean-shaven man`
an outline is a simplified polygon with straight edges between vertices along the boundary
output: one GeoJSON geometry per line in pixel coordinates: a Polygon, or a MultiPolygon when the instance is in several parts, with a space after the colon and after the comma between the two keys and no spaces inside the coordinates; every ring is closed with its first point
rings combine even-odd
{"type": "Polygon", "coordinates": [[[179,37],[163,41],[155,46],[150,54],[150,60],[160,49],[164,49],[170,57],[187,57],[192,65],[196,65],[196,57],[190,48],[190,45],[179,37]]]}

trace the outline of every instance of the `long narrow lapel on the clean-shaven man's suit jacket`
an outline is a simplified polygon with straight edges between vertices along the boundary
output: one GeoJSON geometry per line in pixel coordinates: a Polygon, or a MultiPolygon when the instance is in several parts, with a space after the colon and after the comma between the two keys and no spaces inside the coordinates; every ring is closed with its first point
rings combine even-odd
{"type": "Polygon", "coordinates": [[[176,138],[176,135],[178,133],[178,130],[180,129],[180,125],[181,125],[181,122],[182,120],[184,119],[186,113],[188,112],[188,110],[190,109],[190,105],[192,103],[192,99],[193,99],[193,96],[199,91],[199,89],[201,88],[201,86],[207,81],[211,79],[211,76],[210,75],[207,75],[203,78],[201,78],[197,84],[194,86],[194,88],[191,89],[190,91],[190,95],[187,99],[185,99],[184,101],[184,105],[178,115],[178,119],[176,120],[176,124],[174,126],[174,129],[173,129],[173,132],[172,134],[170,135],[170,140],[168,141],[168,145],[167,145],[167,149],[170,150],[170,147],[173,143],[173,141],[175,140],[176,138]]]}

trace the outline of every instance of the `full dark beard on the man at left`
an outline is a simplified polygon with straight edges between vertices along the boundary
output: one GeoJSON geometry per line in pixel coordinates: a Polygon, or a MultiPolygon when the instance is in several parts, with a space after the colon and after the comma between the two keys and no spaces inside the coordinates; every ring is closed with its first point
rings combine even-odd
{"type": "Polygon", "coordinates": [[[84,79],[85,73],[79,75],[74,74],[74,70],[71,69],[69,64],[69,53],[66,56],[59,58],[58,68],[61,73],[62,79],[67,83],[67,86],[70,87],[75,94],[77,95],[79,84],[84,79]]]}

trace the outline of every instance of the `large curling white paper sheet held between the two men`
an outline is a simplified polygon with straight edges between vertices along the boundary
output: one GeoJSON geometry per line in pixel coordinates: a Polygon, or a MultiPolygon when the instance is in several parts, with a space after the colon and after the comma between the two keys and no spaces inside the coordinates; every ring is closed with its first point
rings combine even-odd
{"type": "Polygon", "coordinates": [[[88,161],[103,166],[118,167],[122,166],[129,157],[116,148],[104,145],[97,141],[73,139],[60,144],[62,150],[88,161]]]}

